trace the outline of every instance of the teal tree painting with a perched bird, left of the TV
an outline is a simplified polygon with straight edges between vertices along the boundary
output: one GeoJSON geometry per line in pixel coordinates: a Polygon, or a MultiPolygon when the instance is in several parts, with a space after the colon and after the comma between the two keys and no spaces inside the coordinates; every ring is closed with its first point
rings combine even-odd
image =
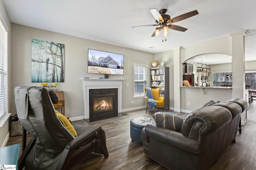
{"type": "Polygon", "coordinates": [[[32,39],[32,82],[64,82],[64,44],[32,39]]]}

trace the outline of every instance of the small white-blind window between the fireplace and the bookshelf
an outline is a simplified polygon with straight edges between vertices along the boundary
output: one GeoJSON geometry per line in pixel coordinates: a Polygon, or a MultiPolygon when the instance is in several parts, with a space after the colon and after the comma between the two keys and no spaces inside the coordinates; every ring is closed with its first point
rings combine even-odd
{"type": "Polygon", "coordinates": [[[147,86],[147,65],[134,64],[134,97],[143,97],[147,86]]]}

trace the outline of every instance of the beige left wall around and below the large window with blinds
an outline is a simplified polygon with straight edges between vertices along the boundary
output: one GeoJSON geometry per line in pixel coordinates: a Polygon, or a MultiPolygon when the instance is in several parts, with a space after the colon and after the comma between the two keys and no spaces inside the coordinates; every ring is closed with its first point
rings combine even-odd
{"type": "MultiPolygon", "coordinates": [[[[10,64],[10,59],[11,59],[11,22],[10,19],[8,17],[8,14],[4,8],[4,3],[2,0],[0,0],[0,20],[2,21],[2,23],[4,24],[4,26],[6,27],[6,29],[8,29],[8,75],[11,74],[11,64],[10,64]]],[[[10,76],[8,79],[8,84],[11,84],[10,81],[10,76]]],[[[10,89],[8,89],[8,95],[10,96],[10,89]]],[[[10,98],[8,99],[8,113],[10,112],[10,98]]],[[[8,124],[8,120],[6,120],[6,122],[4,123],[4,125],[2,127],[0,127],[0,147],[5,146],[6,144],[6,139],[8,140],[8,132],[9,132],[9,124],[8,124]]]]}

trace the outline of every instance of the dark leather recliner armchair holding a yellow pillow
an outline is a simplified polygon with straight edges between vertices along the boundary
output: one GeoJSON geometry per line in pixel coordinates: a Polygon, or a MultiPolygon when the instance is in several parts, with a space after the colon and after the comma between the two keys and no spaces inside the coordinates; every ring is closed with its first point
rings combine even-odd
{"type": "Polygon", "coordinates": [[[23,127],[32,138],[22,152],[19,169],[66,170],[91,152],[108,158],[105,132],[100,126],[74,124],[75,137],[57,117],[58,96],[43,87],[16,87],[15,104],[23,127]]]}

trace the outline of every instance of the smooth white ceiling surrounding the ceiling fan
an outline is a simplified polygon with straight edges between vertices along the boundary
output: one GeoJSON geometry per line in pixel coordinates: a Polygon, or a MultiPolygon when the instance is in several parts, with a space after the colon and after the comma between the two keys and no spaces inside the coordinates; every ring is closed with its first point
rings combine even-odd
{"type": "Polygon", "coordinates": [[[246,60],[255,60],[251,58],[251,53],[256,52],[255,0],[3,0],[3,2],[12,23],[149,53],[159,53],[179,46],[224,37],[230,33],[253,30],[249,33],[254,37],[248,42],[254,44],[248,47],[248,51],[246,50],[246,60]],[[158,11],[166,8],[168,9],[166,14],[171,18],[193,10],[198,10],[199,14],[175,23],[188,30],[180,32],[169,29],[167,41],[162,42],[162,36],[151,37],[156,27],[132,28],[132,26],[155,23],[150,8],[156,8],[158,11]]]}

